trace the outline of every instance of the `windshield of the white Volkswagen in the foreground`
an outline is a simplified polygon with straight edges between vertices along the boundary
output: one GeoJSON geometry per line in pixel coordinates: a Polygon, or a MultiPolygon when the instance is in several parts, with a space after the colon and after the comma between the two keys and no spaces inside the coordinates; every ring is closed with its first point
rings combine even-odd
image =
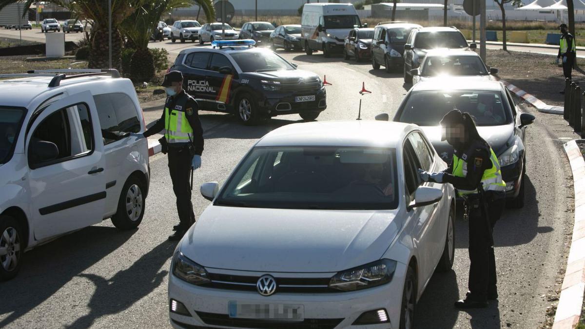
{"type": "Polygon", "coordinates": [[[294,209],[395,209],[395,150],[257,147],[236,168],[215,205],[294,209]]]}

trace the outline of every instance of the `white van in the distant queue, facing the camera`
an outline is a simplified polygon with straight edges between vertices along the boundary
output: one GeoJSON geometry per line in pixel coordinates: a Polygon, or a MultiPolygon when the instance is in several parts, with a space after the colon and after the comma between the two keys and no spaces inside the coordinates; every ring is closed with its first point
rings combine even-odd
{"type": "Polygon", "coordinates": [[[301,38],[305,52],[322,50],[325,57],[343,52],[343,42],[353,28],[364,28],[352,4],[305,4],[302,8],[301,38]]]}

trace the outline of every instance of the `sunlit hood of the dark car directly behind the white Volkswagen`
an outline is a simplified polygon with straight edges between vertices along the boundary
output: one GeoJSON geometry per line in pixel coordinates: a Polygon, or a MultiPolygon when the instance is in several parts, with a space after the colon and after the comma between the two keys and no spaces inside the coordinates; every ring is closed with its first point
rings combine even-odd
{"type": "MultiPolygon", "coordinates": [[[[439,153],[439,156],[445,162],[449,163],[453,157],[453,147],[450,146],[446,140],[441,141],[441,126],[426,126],[421,127],[425,132],[425,135],[431,141],[433,147],[439,153]]],[[[494,150],[496,156],[500,156],[505,150],[510,148],[514,143],[514,125],[503,125],[503,126],[483,126],[477,127],[479,135],[486,140],[494,150]]]]}

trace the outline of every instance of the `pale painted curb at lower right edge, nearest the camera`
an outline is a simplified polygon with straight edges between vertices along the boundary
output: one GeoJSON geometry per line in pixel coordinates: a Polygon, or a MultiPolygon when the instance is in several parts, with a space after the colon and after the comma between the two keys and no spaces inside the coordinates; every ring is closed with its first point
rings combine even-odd
{"type": "Polygon", "coordinates": [[[585,161],[576,140],[571,140],[564,145],[573,172],[575,219],[567,269],[553,329],[576,327],[581,315],[585,290],[585,161]]]}

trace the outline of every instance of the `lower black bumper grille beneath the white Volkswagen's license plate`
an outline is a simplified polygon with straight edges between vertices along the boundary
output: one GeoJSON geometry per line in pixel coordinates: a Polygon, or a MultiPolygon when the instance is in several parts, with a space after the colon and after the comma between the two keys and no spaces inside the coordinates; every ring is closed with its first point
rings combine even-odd
{"type": "Polygon", "coordinates": [[[195,312],[205,324],[240,328],[333,329],[343,321],[343,318],[305,318],[302,322],[285,322],[248,318],[230,318],[228,314],[206,313],[200,311],[195,312]]]}

